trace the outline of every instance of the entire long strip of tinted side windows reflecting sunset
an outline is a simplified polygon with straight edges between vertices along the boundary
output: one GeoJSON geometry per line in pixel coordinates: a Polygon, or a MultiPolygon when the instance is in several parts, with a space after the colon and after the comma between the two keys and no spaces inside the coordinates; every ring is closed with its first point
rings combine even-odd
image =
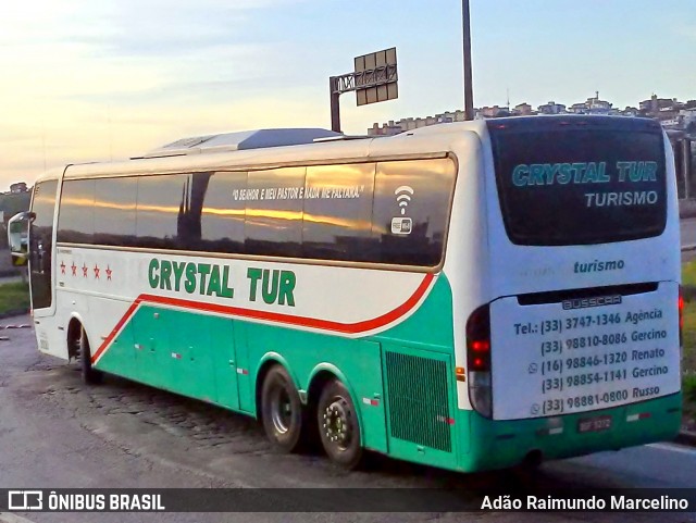
{"type": "Polygon", "coordinates": [[[62,241],[435,266],[450,160],[69,180],[62,241]]]}

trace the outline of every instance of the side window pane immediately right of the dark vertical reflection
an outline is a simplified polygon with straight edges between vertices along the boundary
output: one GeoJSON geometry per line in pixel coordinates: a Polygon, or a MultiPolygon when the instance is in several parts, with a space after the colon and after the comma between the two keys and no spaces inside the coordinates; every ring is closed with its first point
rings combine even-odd
{"type": "Polygon", "coordinates": [[[215,173],[208,184],[197,250],[244,252],[247,173],[215,173]]]}

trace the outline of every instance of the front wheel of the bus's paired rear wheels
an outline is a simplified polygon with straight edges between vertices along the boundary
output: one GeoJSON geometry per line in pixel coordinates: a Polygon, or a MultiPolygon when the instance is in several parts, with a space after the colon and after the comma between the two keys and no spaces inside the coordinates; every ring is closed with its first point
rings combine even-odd
{"type": "Polygon", "coordinates": [[[271,368],[263,379],[261,419],[273,447],[283,452],[299,450],[304,411],[293,378],[281,365],[271,368]]]}

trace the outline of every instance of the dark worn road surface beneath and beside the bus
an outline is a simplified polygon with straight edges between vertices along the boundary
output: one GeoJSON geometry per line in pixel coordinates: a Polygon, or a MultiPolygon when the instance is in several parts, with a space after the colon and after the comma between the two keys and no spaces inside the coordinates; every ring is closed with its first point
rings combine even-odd
{"type": "MultiPolygon", "coordinates": [[[[0,325],[28,320],[5,320],[0,325]]],[[[10,337],[0,341],[0,488],[439,486],[460,488],[462,496],[478,500],[492,489],[521,485],[696,487],[696,450],[671,444],[546,463],[534,477],[512,472],[456,474],[386,458],[374,458],[368,471],[346,473],[319,454],[276,454],[253,420],[199,401],[113,376],[101,386],[86,387],[76,365],[36,351],[30,329],[0,331],[0,335],[10,337]]],[[[270,510],[286,507],[293,507],[293,499],[283,495],[269,500],[270,510]]],[[[17,515],[36,523],[625,520],[618,513],[484,512],[17,515]]],[[[696,521],[696,513],[631,519],[685,522],[696,521]]]]}

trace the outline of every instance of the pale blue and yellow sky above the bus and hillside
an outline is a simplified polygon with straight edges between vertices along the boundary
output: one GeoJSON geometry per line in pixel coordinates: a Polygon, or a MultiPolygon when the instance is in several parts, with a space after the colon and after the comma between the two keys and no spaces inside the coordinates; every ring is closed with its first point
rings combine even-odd
{"type": "MultiPolygon", "coordinates": [[[[470,0],[474,105],[696,99],[696,0],[470,0]]],[[[23,0],[0,7],[0,191],[188,136],[331,128],[328,77],[397,48],[399,98],[463,107],[461,0],[23,0]]]]}

